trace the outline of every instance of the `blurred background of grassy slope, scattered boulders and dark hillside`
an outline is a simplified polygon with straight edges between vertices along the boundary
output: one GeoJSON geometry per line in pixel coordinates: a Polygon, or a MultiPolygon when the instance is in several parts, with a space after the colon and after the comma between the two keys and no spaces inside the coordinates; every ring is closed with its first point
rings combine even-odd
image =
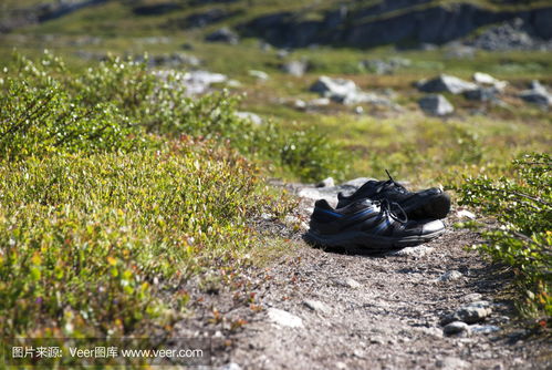
{"type": "Polygon", "coordinates": [[[550,147],[550,0],[3,0],[0,14],[0,64],[44,49],[74,71],[146,62],[347,155],[271,169],[283,177],[454,182],[550,147]]]}

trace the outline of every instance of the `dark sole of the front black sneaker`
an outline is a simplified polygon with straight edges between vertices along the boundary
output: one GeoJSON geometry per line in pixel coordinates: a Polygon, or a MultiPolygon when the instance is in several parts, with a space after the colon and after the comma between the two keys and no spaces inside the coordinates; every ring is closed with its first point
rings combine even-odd
{"type": "Polygon", "coordinates": [[[364,232],[347,232],[337,235],[320,235],[311,230],[303,235],[306,243],[321,247],[342,247],[347,249],[364,249],[382,251],[417,246],[435,239],[445,233],[445,229],[426,235],[406,237],[386,237],[364,232]]]}

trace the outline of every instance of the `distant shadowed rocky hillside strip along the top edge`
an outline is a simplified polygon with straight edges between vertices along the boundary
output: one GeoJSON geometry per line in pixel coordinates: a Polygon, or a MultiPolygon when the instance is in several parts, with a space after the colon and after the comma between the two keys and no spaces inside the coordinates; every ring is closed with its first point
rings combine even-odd
{"type": "Polygon", "coordinates": [[[492,23],[520,18],[535,38],[552,38],[550,1],[8,1],[0,33],[136,34],[228,25],[242,37],[279,45],[313,43],[371,48],[388,43],[445,43],[492,23]],[[32,25],[39,24],[39,28],[32,25]],[[39,33],[40,33],[39,32],[39,33]]]}

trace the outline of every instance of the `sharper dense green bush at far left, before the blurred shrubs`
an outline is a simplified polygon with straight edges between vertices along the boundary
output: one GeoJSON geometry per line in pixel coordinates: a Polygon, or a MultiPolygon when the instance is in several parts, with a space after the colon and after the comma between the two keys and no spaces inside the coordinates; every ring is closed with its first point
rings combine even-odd
{"type": "MultiPolygon", "coordinates": [[[[42,65],[52,65],[46,54],[42,65]]],[[[55,152],[124,150],[131,125],[110,102],[86,106],[60,81],[19,58],[17,73],[0,79],[0,156],[18,158],[55,152]]]]}

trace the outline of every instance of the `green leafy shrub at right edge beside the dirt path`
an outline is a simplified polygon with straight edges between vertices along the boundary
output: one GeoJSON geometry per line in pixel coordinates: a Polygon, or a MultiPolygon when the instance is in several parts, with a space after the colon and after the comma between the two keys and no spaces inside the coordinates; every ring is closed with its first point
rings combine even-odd
{"type": "Polygon", "coordinates": [[[525,155],[513,162],[515,177],[468,178],[459,188],[460,204],[477,207],[496,223],[471,224],[486,244],[478,246],[494,260],[514,268],[524,298],[524,314],[552,316],[552,160],[525,155]]]}

